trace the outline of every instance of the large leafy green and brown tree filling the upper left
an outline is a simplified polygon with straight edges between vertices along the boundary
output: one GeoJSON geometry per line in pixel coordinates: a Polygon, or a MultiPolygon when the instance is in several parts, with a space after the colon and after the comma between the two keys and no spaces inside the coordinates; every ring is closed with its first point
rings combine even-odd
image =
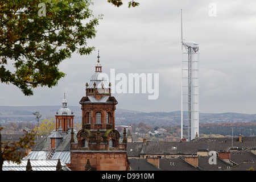
{"type": "Polygon", "coordinates": [[[32,88],[57,85],[65,76],[57,68],[73,52],[89,55],[86,41],[96,36],[101,15],[90,0],[7,0],[0,5],[0,80],[24,95],[32,88]],[[5,67],[13,63],[15,71],[5,67]]]}

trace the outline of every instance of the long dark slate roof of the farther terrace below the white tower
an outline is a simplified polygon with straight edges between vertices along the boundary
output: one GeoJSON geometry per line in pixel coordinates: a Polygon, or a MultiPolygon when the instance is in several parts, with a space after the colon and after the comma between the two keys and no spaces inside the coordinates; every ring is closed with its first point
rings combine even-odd
{"type": "MultiPolygon", "coordinates": [[[[137,143],[137,142],[134,142],[137,143]]],[[[196,155],[199,150],[208,151],[228,151],[232,147],[232,138],[196,138],[191,142],[156,142],[147,141],[146,144],[141,144],[141,154],[163,155],[163,154],[188,154],[196,155]]],[[[127,148],[132,148],[135,144],[127,143],[127,148]],[[131,145],[131,147],[129,146],[131,145]]],[[[256,147],[256,137],[243,137],[243,142],[238,142],[238,138],[233,138],[233,148],[256,147]]],[[[138,148],[137,148],[138,149],[138,148]]],[[[129,150],[127,150],[129,151],[129,150]]],[[[137,151],[138,152],[138,151],[137,151]]],[[[137,155],[137,152],[131,155],[137,155]]],[[[129,155],[129,156],[131,156],[129,155]]]]}

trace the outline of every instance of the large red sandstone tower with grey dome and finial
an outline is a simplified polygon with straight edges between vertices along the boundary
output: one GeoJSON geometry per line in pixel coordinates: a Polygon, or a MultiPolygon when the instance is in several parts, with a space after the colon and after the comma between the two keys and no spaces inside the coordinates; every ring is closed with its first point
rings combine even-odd
{"type": "Polygon", "coordinates": [[[107,75],[102,73],[98,55],[96,70],[86,83],[86,96],[80,100],[82,130],[75,142],[71,133],[71,169],[74,171],[125,171],[129,170],[126,152],[126,130],[122,142],[115,130],[115,105],[107,75]]]}

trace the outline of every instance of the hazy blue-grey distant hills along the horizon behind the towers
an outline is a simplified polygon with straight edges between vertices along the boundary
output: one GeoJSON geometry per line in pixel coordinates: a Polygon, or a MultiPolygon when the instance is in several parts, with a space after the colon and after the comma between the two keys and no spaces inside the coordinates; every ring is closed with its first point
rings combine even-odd
{"type": "MultiPolygon", "coordinates": [[[[0,106],[0,122],[33,122],[35,111],[42,114],[42,118],[55,117],[61,106],[0,106]]],[[[75,114],[75,122],[80,122],[82,111],[80,106],[68,106],[75,114]]],[[[150,112],[117,109],[115,111],[116,125],[129,125],[143,122],[146,125],[176,126],[180,125],[180,111],[150,112]]],[[[200,123],[237,123],[256,122],[256,114],[241,113],[200,113],[200,123]]]]}

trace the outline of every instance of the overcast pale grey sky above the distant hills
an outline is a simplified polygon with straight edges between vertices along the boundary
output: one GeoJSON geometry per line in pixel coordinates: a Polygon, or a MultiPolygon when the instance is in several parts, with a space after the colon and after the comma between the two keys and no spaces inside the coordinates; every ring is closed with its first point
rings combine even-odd
{"type": "MultiPolygon", "coordinates": [[[[138,111],[180,110],[181,36],[199,43],[200,111],[202,113],[256,113],[256,1],[255,0],[137,0],[138,7],[114,7],[95,1],[94,15],[103,14],[90,46],[100,49],[102,70],[110,74],[159,73],[159,97],[117,94],[117,108],[138,111]],[[216,5],[216,16],[210,3],[216,5]]],[[[89,56],[73,54],[60,70],[65,78],[52,89],[36,88],[23,96],[13,85],[0,84],[0,105],[60,105],[66,93],[69,106],[80,106],[85,83],[94,73],[97,51],[89,56]]],[[[118,81],[117,81],[118,82],[118,81]]]]}

